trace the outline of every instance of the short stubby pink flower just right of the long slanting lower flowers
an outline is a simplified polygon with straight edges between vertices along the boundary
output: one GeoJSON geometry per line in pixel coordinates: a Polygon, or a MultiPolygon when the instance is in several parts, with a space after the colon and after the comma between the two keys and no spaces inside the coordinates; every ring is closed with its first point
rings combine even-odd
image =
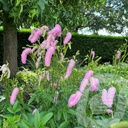
{"type": "Polygon", "coordinates": [[[90,91],[97,91],[98,90],[99,80],[97,78],[91,77],[90,78],[90,91]]]}

